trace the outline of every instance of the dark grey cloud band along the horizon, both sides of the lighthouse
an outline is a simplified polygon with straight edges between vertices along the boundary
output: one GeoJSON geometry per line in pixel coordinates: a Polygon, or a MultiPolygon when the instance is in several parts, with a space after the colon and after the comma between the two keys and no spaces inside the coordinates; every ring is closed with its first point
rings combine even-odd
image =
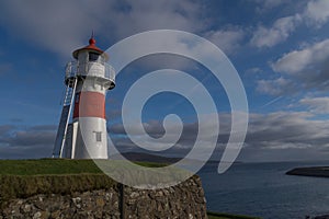
{"type": "MultiPolygon", "coordinates": [[[[245,147],[240,159],[264,161],[264,160],[294,160],[317,159],[329,153],[329,123],[328,120],[315,119],[307,112],[276,112],[270,114],[250,114],[245,147]],[[308,154],[308,155],[306,155],[308,154]]],[[[216,158],[220,158],[230,132],[230,115],[220,114],[220,132],[214,131],[212,122],[207,124],[207,136],[204,147],[207,147],[207,137],[217,135],[216,158]]],[[[146,131],[155,138],[164,134],[161,122],[151,120],[144,124],[146,131]]],[[[183,132],[178,142],[171,149],[161,152],[171,157],[183,157],[191,150],[198,131],[196,123],[184,124],[183,132]]],[[[19,129],[15,126],[0,126],[0,158],[43,158],[50,157],[55,141],[56,126],[33,126],[19,129]]],[[[141,151],[132,142],[121,124],[109,127],[112,141],[120,151],[141,151]]],[[[138,130],[135,135],[141,136],[138,130]]],[[[175,135],[168,129],[167,135],[175,135]]],[[[170,140],[170,138],[169,138],[170,140]]],[[[155,147],[157,143],[155,141],[155,147]]],[[[110,152],[111,153],[111,152],[110,152]]]]}

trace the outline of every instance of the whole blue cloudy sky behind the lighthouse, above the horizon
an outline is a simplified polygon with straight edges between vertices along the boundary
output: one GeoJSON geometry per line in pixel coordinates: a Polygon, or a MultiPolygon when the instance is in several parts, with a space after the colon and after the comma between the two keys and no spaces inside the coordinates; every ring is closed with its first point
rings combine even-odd
{"type": "MultiPolygon", "coordinates": [[[[238,160],[328,160],[327,0],[1,1],[0,159],[52,155],[65,91],[64,68],[72,60],[71,53],[88,44],[92,31],[97,45],[105,50],[152,30],[204,37],[235,66],[249,105],[249,126],[238,160]]],[[[110,62],[111,56],[115,54],[110,54],[110,62]]],[[[134,81],[163,68],[189,72],[208,89],[220,122],[213,159],[220,158],[230,129],[223,85],[202,65],[166,54],[128,65],[107,93],[107,130],[115,146],[123,152],[140,151],[122,125],[122,103],[134,81]]],[[[197,95],[197,91],[192,93],[197,95]]],[[[184,96],[154,95],[141,115],[151,137],[163,135],[168,114],[179,115],[184,129],[175,146],[162,154],[182,157],[197,134],[196,113],[184,96]]]]}

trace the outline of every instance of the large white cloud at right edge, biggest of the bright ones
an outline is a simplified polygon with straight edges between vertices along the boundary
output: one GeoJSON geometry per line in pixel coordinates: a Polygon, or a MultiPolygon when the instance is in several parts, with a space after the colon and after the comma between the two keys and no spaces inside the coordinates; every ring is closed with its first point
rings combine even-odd
{"type": "Polygon", "coordinates": [[[272,64],[272,69],[283,76],[274,80],[259,80],[258,91],[272,95],[311,89],[328,91],[329,39],[284,54],[272,64]]]}

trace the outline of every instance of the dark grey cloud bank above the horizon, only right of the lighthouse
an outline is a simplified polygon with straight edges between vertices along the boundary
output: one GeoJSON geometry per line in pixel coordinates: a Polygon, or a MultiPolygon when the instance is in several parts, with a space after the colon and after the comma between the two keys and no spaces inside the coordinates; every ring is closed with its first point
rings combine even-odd
{"type": "MultiPolygon", "coordinates": [[[[230,116],[228,114],[222,114],[219,118],[222,118],[219,119],[219,135],[209,128],[209,135],[218,135],[216,153],[223,151],[230,132],[230,116]]],[[[243,159],[249,160],[252,158],[258,161],[309,160],[313,158],[324,158],[322,151],[329,148],[328,120],[317,120],[310,113],[276,112],[270,114],[250,114],[249,119],[245,147],[241,151],[243,154],[241,158],[243,159]],[[308,151],[308,153],[306,151],[308,151]],[[300,154],[298,157],[299,152],[300,154]],[[261,154],[263,154],[263,157],[261,154]]],[[[159,122],[145,124],[144,127],[151,137],[163,135],[163,127],[159,122]]],[[[111,132],[111,138],[114,139],[114,143],[120,145],[120,147],[126,146],[127,150],[136,149],[136,146],[125,136],[126,132],[121,124],[110,127],[109,131],[111,132]]],[[[139,135],[137,130],[136,135],[139,135]]],[[[173,150],[166,151],[164,153],[185,153],[194,145],[196,135],[196,123],[184,124],[182,136],[175,143],[173,150]]],[[[157,147],[157,143],[155,143],[155,147],[157,147]]],[[[204,142],[204,147],[207,147],[206,141],[204,142]]]]}

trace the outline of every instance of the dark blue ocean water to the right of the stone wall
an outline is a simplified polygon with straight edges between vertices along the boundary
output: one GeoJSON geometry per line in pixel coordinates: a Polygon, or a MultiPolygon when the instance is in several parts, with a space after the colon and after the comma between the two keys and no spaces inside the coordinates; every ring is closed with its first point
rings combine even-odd
{"type": "Polygon", "coordinates": [[[273,219],[329,215],[329,178],[285,175],[293,168],[328,161],[235,163],[222,175],[217,165],[207,163],[197,173],[208,210],[273,219]]]}

